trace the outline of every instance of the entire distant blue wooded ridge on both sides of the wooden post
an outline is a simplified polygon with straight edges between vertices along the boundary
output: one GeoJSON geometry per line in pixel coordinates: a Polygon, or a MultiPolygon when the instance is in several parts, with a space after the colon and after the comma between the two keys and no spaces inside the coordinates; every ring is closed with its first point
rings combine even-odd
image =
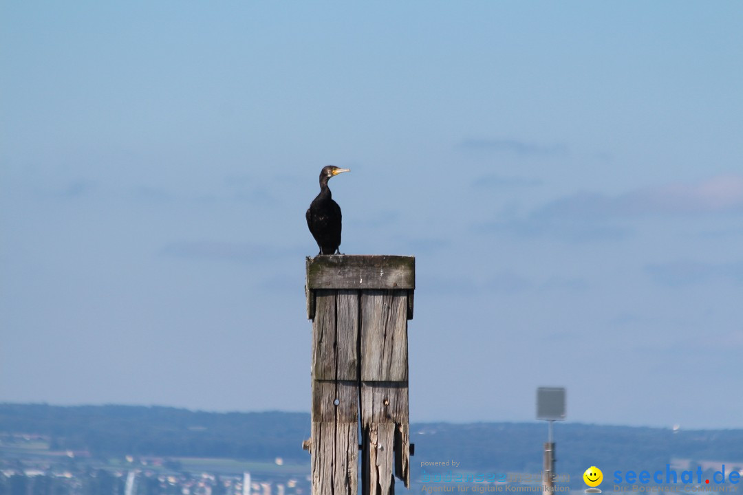
{"type": "MultiPolygon", "coordinates": [[[[0,404],[0,432],[49,436],[56,450],[94,456],[223,457],[309,462],[306,413],[205,413],[172,407],[0,404]]],[[[466,471],[539,473],[547,425],[531,423],[412,424],[413,476],[421,461],[453,459],[466,471]]],[[[737,462],[743,430],[678,430],[558,423],[557,473],[591,465],[621,470],[664,468],[672,458],[737,462]]],[[[732,466],[731,466],[732,467],[732,466]]],[[[606,476],[606,473],[605,473],[606,476]]],[[[0,494],[3,495],[3,494],[0,494]]],[[[64,495],[64,494],[29,494],[64,495]]]]}

